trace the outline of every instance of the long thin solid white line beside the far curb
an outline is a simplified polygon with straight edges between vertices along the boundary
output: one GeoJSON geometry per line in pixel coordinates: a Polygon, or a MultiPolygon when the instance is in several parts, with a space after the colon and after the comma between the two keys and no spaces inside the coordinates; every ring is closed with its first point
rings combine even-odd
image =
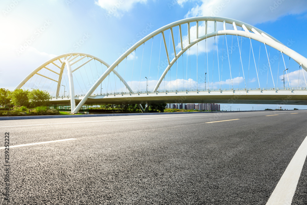
{"type": "MultiPolygon", "coordinates": [[[[267,113],[267,112],[228,113],[228,114],[213,114],[213,115],[239,115],[239,114],[262,114],[262,113],[267,113]]],[[[195,114],[197,114],[197,113],[195,113],[195,114]]],[[[73,123],[89,123],[89,122],[110,122],[110,121],[124,121],[124,120],[148,120],[148,119],[175,118],[175,117],[195,117],[195,116],[212,116],[212,115],[188,115],[188,116],[173,116],[173,117],[151,117],[151,118],[122,119],[122,120],[99,120],[99,121],[84,121],[84,122],[63,122],[63,123],[51,123],[51,124],[73,124],[73,123]]],[[[106,116],[106,117],[107,117],[107,116],[106,116]]],[[[0,127],[0,128],[25,127],[25,126],[37,126],[37,125],[51,125],[51,124],[14,125],[14,126],[4,126],[4,127],[0,127]]]]}

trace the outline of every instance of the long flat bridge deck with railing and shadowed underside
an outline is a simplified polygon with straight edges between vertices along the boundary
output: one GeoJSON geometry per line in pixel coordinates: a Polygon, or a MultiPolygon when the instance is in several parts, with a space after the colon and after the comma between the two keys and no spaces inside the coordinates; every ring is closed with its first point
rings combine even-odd
{"type": "MultiPolygon", "coordinates": [[[[83,96],[75,97],[76,104],[83,96]]],[[[70,104],[69,98],[53,98],[52,104],[70,104]]],[[[86,104],[225,103],[307,105],[307,90],[173,91],[113,93],[90,96],[86,104]]]]}

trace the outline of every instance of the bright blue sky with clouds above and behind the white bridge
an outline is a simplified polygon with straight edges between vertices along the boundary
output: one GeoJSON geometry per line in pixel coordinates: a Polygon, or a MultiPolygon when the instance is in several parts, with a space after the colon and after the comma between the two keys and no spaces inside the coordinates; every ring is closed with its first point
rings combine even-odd
{"type": "MultiPolygon", "coordinates": [[[[69,52],[82,52],[97,56],[107,63],[112,64],[120,54],[133,44],[133,42],[140,40],[147,34],[169,23],[195,16],[216,15],[246,22],[272,35],[284,44],[291,42],[291,49],[305,57],[307,56],[307,50],[305,49],[307,46],[307,41],[305,39],[305,25],[307,25],[306,1],[2,0],[0,2],[0,11],[0,26],[2,28],[0,34],[0,87],[10,90],[14,89],[31,71],[52,57],[69,52]],[[81,41],[82,44],[79,43],[78,45],[76,42],[80,42],[81,39],[84,41],[81,41]],[[25,51],[20,52],[22,50],[22,45],[25,43],[28,43],[29,47],[26,48],[25,51]]],[[[175,30],[174,33],[176,33],[175,30]]],[[[178,39],[176,35],[178,36],[178,34],[175,34],[175,42],[178,39]]],[[[183,35],[186,35],[185,31],[183,31],[183,35]]],[[[169,33],[165,32],[165,36],[168,43],[169,33]]],[[[151,65],[151,75],[144,73],[140,76],[136,74],[139,68],[134,68],[134,73],[132,73],[131,77],[128,77],[132,79],[132,82],[131,79],[125,79],[131,82],[131,85],[134,85],[133,81],[135,81],[135,89],[137,89],[138,86],[139,88],[141,87],[140,89],[144,89],[143,85],[146,86],[146,84],[144,84],[146,81],[144,77],[146,75],[149,76],[152,83],[156,81],[154,79],[157,79],[159,74],[153,68],[157,67],[157,64],[161,66],[161,62],[166,59],[165,51],[162,50],[164,53],[160,53],[159,51],[160,39],[159,35],[153,39],[153,54],[150,53],[152,44],[150,41],[144,45],[145,55],[142,54],[143,48],[140,47],[136,50],[135,57],[129,57],[130,60],[128,60],[126,67],[129,67],[130,72],[131,66],[133,67],[133,61],[135,63],[134,66],[139,66],[139,68],[142,63],[143,65],[146,65],[146,63],[148,65],[149,62],[153,64],[151,65]],[[159,53],[162,54],[160,61],[157,57],[159,53]],[[151,59],[151,56],[154,56],[154,58],[151,59]],[[137,85],[139,79],[141,79],[142,83],[137,85]]],[[[222,54],[220,46],[223,40],[225,40],[223,37],[218,38],[220,55],[222,54]]],[[[232,40],[234,39],[227,37],[228,43],[232,40]]],[[[213,41],[211,41],[211,43],[212,42],[213,41]]],[[[255,53],[256,51],[259,52],[259,45],[257,42],[253,42],[253,46],[256,47],[256,45],[257,48],[255,48],[255,53]]],[[[202,44],[197,48],[199,51],[200,59],[198,60],[198,64],[200,67],[205,64],[207,53],[209,59],[212,59],[214,52],[216,52],[212,50],[215,48],[213,44],[211,47],[209,44],[209,50],[202,51],[201,46],[202,44]]],[[[244,51],[242,49],[242,56],[247,59],[249,57],[248,42],[242,47],[246,47],[244,51]]],[[[262,52],[264,51],[263,49],[264,47],[262,47],[262,52]]],[[[272,49],[270,52],[274,53],[275,51],[272,49]]],[[[215,57],[216,54],[217,53],[215,53],[215,57]]],[[[274,55],[278,55],[278,58],[280,58],[277,52],[275,52],[274,55]]],[[[193,50],[190,56],[183,55],[183,59],[178,60],[178,70],[181,69],[179,72],[181,72],[183,76],[181,78],[178,77],[178,79],[182,79],[182,82],[185,82],[184,80],[189,78],[191,78],[190,81],[195,82],[196,78],[204,77],[204,74],[196,76],[196,74],[193,74],[195,73],[193,71],[191,76],[186,75],[188,72],[185,72],[185,64],[190,57],[192,67],[195,67],[196,55],[193,53],[193,50]]],[[[264,60],[263,64],[265,63],[264,60]]],[[[280,61],[280,63],[281,62],[282,61],[280,61]]],[[[299,66],[296,66],[293,62],[289,62],[289,60],[286,62],[287,65],[289,63],[291,67],[293,66],[293,69],[290,70],[289,73],[290,83],[297,82],[297,73],[294,72],[299,70],[299,66]]],[[[212,64],[212,62],[209,61],[209,64],[212,64]]],[[[240,62],[238,61],[233,64],[239,66],[240,62]]],[[[259,64],[261,65],[262,61],[259,61],[259,64]]],[[[209,76],[211,80],[209,80],[208,86],[212,86],[212,88],[216,88],[216,86],[219,87],[218,83],[216,84],[218,81],[216,65],[217,62],[215,61],[215,65],[213,65],[215,69],[213,73],[215,73],[215,75],[209,76]],[[210,84],[210,81],[212,81],[213,84],[210,84]]],[[[226,65],[227,64],[225,64],[225,66],[226,65]]],[[[272,67],[274,66],[277,68],[278,63],[274,63],[272,67]]],[[[125,73],[124,67],[125,65],[123,64],[119,65],[119,71],[122,71],[122,75],[125,73]]],[[[148,69],[147,67],[143,68],[142,72],[148,69]]],[[[209,67],[211,69],[211,65],[209,67]]],[[[245,69],[247,69],[246,66],[245,69]]],[[[171,70],[173,72],[171,77],[174,79],[177,73],[174,73],[173,68],[171,70]]],[[[200,73],[201,72],[203,71],[200,68],[200,73]]],[[[210,73],[212,73],[212,70],[210,73]]],[[[225,73],[225,75],[227,74],[225,73]]],[[[271,79],[267,78],[265,74],[263,74],[264,77],[263,80],[261,80],[261,84],[266,84],[266,81],[268,81],[268,87],[273,86],[273,82],[270,82],[271,79]]],[[[302,73],[300,74],[302,75],[302,73]]],[[[233,78],[238,77],[239,79],[239,76],[242,78],[242,73],[234,74],[233,78]]],[[[279,84],[278,87],[282,87],[280,73],[275,74],[275,76],[274,78],[276,78],[279,84]]],[[[171,77],[169,77],[166,82],[172,81],[173,79],[171,79],[171,77]]],[[[249,87],[257,86],[257,81],[255,81],[255,76],[253,76],[252,73],[249,78],[249,87]]],[[[225,86],[228,85],[228,79],[229,77],[222,78],[222,81],[225,81],[225,86]]],[[[302,79],[299,80],[301,81],[302,79]]],[[[277,83],[276,81],[274,82],[275,84],[277,83]]],[[[178,82],[174,83],[178,84],[178,82]]],[[[240,81],[240,84],[243,85],[243,81],[240,81]]],[[[202,85],[204,85],[204,83],[202,85]]],[[[173,87],[174,86],[175,84],[173,84],[173,87]]],[[[183,87],[186,86],[187,85],[183,85],[183,87]]],[[[228,106],[230,105],[222,105],[223,108],[227,108],[228,106]]],[[[277,105],[238,104],[231,106],[232,109],[241,108],[241,110],[251,110],[253,106],[254,109],[255,107],[259,109],[277,108],[277,105]]],[[[307,106],[284,106],[284,108],[289,109],[294,107],[307,108],[307,106]]]]}

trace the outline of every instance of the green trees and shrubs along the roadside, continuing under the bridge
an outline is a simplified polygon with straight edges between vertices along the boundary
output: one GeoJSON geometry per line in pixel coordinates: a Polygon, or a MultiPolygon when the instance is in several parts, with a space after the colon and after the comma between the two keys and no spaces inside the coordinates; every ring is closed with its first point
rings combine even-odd
{"type": "MultiPolygon", "coordinates": [[[[0,88],[0,116],[70,115],[54,106],[49,108],[51,95],[47,91],[0,88]]],[[[145,109],[145,104],[142,107],[145,109]]],[[[148,112],[164,112],[166,104],[151,104],[148,112]]],[[[88,108],[92,113],[138,113],[138,104],[94,105],[88,108]]],[[[81,114],[81,113],[79,113],[81,114]]]]}

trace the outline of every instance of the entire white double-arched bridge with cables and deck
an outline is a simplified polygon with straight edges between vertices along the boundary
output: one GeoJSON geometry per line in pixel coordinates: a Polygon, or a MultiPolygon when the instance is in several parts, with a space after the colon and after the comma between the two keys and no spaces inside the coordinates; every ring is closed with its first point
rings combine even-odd
{"type": "Polygon", "coordinates": [[[139,104],[142,112],[162,102],[304,105],[307,59],[291,45],[234,19],[187,18],[111,65],[86,53],[54,57],[16,89],[47,90],[52,104],[71,104],[74,113],[84,104],[139,104]]]}

